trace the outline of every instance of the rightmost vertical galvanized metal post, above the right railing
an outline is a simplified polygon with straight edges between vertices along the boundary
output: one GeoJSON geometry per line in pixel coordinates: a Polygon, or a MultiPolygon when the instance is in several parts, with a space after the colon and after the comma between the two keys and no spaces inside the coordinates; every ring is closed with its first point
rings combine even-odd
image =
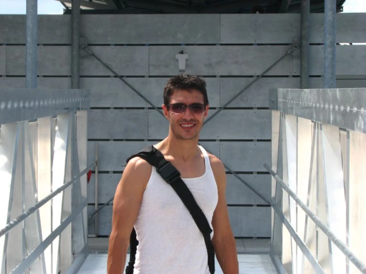
{"type": "Polygon", "coordinates": [[[335,88],[336,0],[324,0],[324,88],[335,88]]]}

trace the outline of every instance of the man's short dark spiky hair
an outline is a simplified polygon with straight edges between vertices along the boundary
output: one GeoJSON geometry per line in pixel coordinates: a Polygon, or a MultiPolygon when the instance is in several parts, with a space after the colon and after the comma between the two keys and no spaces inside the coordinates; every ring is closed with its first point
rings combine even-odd
{"type": "Polygon", "coordinates": [[[202,78],[194,75],[177,75],[169,78],[164,87],[164,105],[168,105],[170,96],[177,90],[198,90],[204,95],[204,104],[209,104],[207,97],[206,82],[202,78]]]}

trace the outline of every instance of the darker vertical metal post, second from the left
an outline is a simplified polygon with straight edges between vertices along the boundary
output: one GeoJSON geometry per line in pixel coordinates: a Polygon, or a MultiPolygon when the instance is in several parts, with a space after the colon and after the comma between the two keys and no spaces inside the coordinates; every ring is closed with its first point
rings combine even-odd
{"type": "Polygon", "coordinates": [[[71,89],[79,89],[80,0],[72,0],[71,25],[71,89]]]}

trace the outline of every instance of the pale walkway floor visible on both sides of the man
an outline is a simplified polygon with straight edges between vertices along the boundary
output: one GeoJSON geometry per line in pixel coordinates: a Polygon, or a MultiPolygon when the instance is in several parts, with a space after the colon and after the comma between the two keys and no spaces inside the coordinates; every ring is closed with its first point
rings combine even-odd
{"type": "MultiPolygon", "coordinates": [[[[107,238],[89,239],[90,254],[78,274],[105,274],[107,238]]],[[[269,254],[268,239],[237,239],[240,274],[277,274],[269,254]]],[[[215,274],[222,271],[215,261],[215,274]]]]}

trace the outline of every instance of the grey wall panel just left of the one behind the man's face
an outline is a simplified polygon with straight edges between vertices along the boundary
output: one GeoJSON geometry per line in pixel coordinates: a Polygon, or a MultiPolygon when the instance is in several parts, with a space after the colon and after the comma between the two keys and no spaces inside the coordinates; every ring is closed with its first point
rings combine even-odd
{"type": "Polygon", "coordinates": [[[147,109],[95,109],[88,115],[89,139],[147,139],[147,109]]]}

